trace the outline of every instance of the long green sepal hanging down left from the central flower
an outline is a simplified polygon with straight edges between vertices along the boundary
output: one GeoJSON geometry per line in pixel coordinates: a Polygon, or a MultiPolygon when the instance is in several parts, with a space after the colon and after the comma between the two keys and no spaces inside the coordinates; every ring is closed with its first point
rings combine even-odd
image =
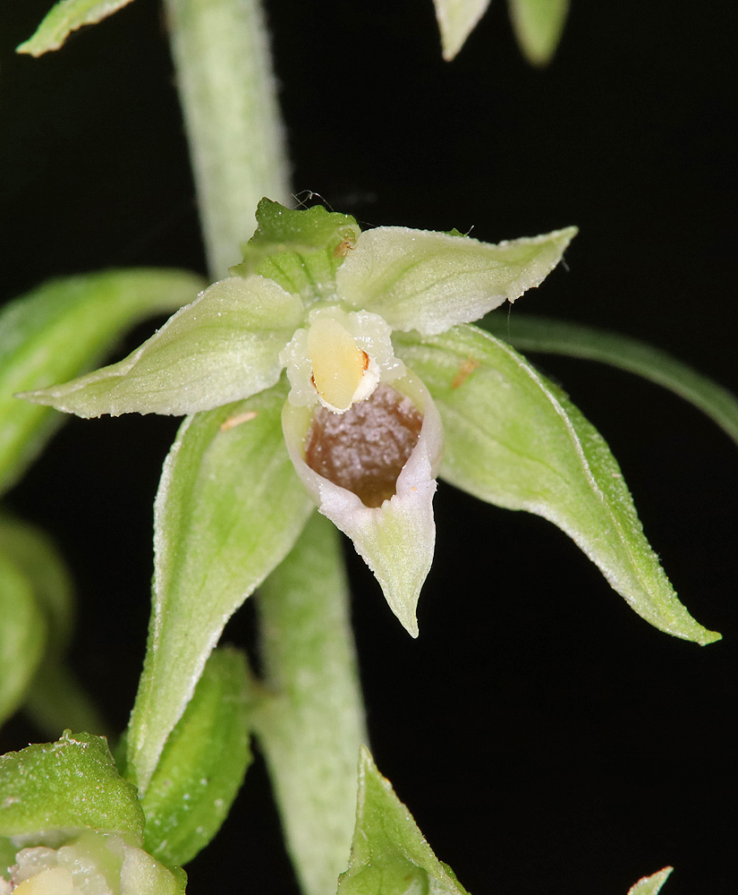
{"type": "Polygon", "coordinates": [[[182,423],[155,511],[147,657],[128,760],[143,793],[225,622],[292,548],[310,515],[284,448],[284,381],[182,423]]]}

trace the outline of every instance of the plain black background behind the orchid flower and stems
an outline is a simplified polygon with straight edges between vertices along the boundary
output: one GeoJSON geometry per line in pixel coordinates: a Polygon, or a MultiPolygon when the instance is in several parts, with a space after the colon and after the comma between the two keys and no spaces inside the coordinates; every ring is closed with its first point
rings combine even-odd
{"type": "MultiPolygon", "coordinates": [[[[0,298],[109,266],[202,270],[157,4],[137,0],[58,54],[13,56],[46,8],[0,9],[0,298]]],[[[367,224],[473,226],[491,242],[577,224],[568,271],[513,314],[642,337],[736,387],[734,4],[573,0],[542,72],[502,0],[452,64],[430,0],[267,9],[296,191],[367,224]]],[[[377,764],[475,895],[624,895],[666,864],[669,895],[734,891],[738,454],[656,387],[535,360],[609,440],[674,586],[725,641],[657,632],[551,525],[441,485],[418,641],[347,550],[377,764]]],[[[75,666],[117,728],[175,426],[72,420],[7,501],[72,564],[75,666]]],[[[229,635],[248,641],[250,624],[247,608],[229,635]]],[[[3,746],[30,737],[16,720],[3,746]]],[[[193,895],[297,891],[260,761],[188,869],[193,895]]]]}

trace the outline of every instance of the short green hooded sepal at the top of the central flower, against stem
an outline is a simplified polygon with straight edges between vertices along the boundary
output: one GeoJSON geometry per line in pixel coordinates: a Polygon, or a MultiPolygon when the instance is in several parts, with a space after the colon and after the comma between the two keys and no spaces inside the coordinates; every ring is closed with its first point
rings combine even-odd
{"type": "Polygon", "coordinates": [[[242,263],[231,274],[269,277],[306,305],[333,298],[335,271],[361,233],[354,218],[322,205],[285,209],[269,199],[259,202],[256,218],[256,232],[243,244],[242,263]]]}

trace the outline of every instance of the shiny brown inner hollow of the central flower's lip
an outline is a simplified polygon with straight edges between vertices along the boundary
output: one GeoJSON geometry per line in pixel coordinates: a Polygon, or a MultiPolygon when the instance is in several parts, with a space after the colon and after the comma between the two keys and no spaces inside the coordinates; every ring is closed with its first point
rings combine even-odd
{"type": "Polygon", "coordinates": [[[305,462],[353,491],[367,507],[379,507],[394,494],[422,424],[409,397],[380,385],[345,413],[318,407],[306,440],[305,462]]]}

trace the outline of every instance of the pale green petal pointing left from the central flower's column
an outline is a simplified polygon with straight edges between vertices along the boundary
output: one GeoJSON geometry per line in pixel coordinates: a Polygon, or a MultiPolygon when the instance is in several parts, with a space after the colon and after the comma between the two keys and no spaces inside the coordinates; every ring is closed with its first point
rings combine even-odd
{"type": "Polygon", "coordinates": [[[123,361],[22,397],[79,416],[197,413],[279,379],[302,303],[263,277],[213,284],[123,361]]]}

